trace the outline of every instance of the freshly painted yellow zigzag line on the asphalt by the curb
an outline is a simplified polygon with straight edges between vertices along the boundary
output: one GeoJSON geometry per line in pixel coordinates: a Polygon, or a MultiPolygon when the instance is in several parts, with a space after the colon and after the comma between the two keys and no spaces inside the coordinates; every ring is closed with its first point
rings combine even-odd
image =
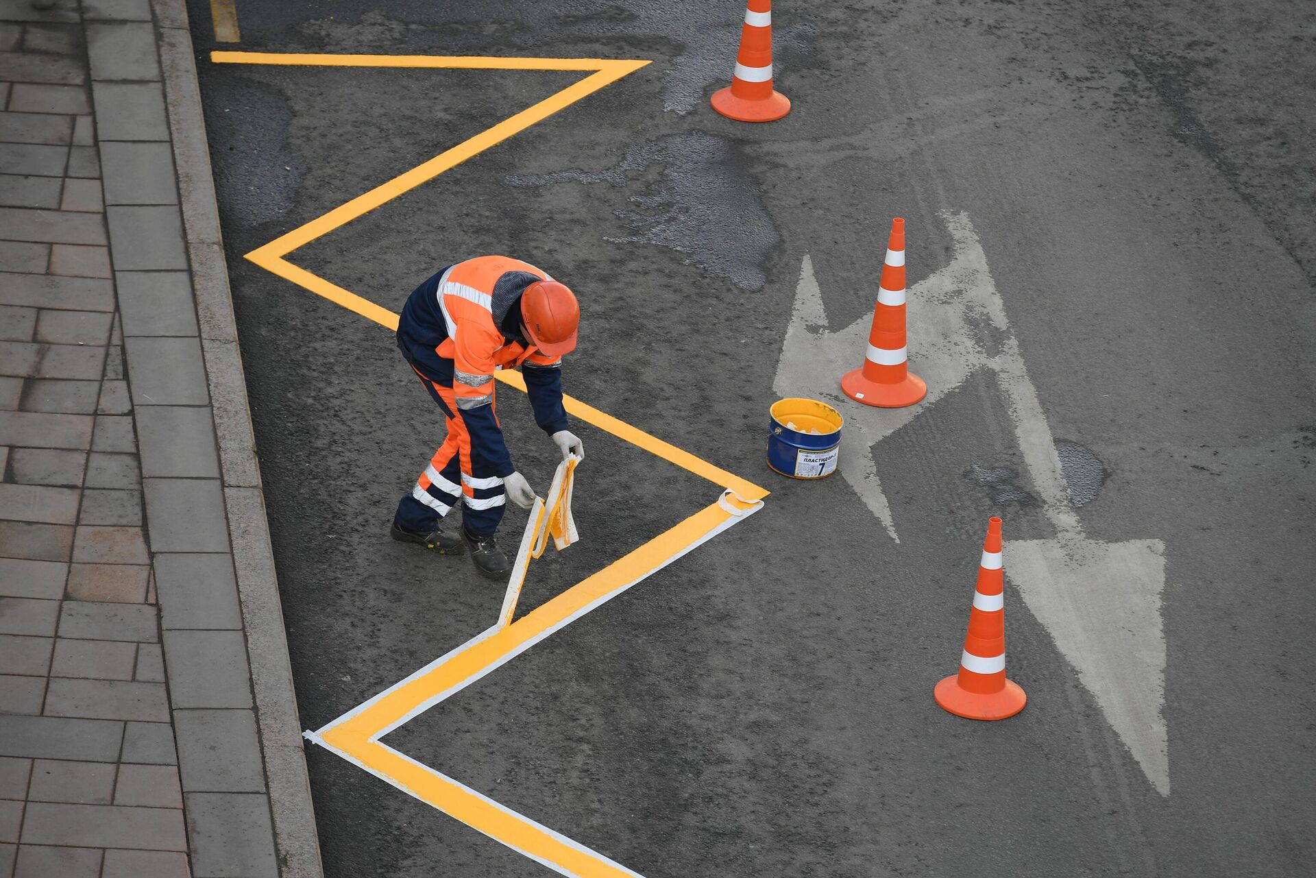
{"type": "MultiPolygon", "coordinates": [[[[247,259],[261,267],[393,330],[397,328],[396,313],[293,265],[286,257],[297,247],[305,246],[421,183],[434,179],[443,171],[649,63],[647,61],[590,58],[458,58],[249,51],[216,51],[212,53],[211,58],[216,63],[249,65],[594,71],[580,82],[246,254],[247,259]]],[[[500,371],[497,378],[511,387],[525,391],[525,382],[520,373],[500,371]]],[[[487,632],[476,636],[465,646],[349,711],[318,732],[308,732],[308,737],[408,794],[557,871],[580,878],[619,878],[620,875],[636,878],[636,873],[607,857],[379,742],[382,736],[407,720],[461,691],[465,686],[501,666],[563,625],[611,600],[754,513],[762,507],[762,499],[769,494],[765,488],[746,479],[713,466],[578,399],[566,396],[563,404],[567,412],[575,417],[705,478],[726,488],[729,494],[521,619],[511,624],[505,624],[500,619],[487,632]]]]}

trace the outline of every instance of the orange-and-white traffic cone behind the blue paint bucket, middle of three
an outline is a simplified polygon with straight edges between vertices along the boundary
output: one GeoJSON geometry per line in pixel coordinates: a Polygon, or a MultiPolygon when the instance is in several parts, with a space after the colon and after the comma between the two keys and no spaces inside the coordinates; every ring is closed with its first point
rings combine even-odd
{"type": "Polygon", "coordinates": [[[887,259],[882,266],[878,308],[873,312],[863,365],[841,379],[841,390],[865,405],[901,408],[928,395],[928,386],[909,371],[904,313],[904,220],[891,220],[887,259]]]}

